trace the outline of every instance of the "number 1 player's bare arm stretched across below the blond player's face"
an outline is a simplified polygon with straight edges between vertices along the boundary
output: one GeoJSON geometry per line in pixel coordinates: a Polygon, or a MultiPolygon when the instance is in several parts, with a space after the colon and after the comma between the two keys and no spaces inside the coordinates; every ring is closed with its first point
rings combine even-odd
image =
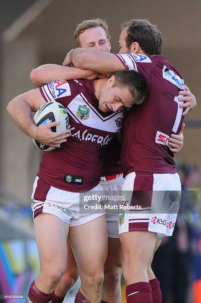
{"type": "Polygon", "coordinates": [[[68,62],[72,62],[77,68],[90,69],[105,75],[125,69],[125,66],[114,54],[87,48],[76,48],[70,52],[69,56],[67,54],[63,65],[71,64],[68,62]]]}

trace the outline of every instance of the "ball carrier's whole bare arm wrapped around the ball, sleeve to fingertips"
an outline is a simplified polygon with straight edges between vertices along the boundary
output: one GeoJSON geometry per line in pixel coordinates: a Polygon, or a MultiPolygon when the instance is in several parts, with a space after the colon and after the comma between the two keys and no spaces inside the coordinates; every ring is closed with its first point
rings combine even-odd
{"type": "Polygon", "coordinates": [[[51,127],[60,122],[47,123],[37,127],[31,117],[31,112],[36,112],[45,103],[39,88],[33,89],[12,99],[7,105],[7,111],[11,119],[26,135],[50,146],[60,147],[60,143],[69,137],[68,131],[54,133],[51,127]],[[65,135],[66,134],[66,135],[65,135]]]}

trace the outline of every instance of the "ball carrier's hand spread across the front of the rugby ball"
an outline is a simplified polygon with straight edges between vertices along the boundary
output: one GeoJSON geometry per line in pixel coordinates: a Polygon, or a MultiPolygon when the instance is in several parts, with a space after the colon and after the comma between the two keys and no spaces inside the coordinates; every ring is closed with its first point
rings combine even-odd
{"type": "Polygon", "coordinates": [[[67,138],[70,136],[70,131],[52,132],[51,127],[54,127],[59,123],[59,121],[55,121],[36,127],[31,138],[44,145],[60,147],[61,143],[67,141],[67,138]]]}

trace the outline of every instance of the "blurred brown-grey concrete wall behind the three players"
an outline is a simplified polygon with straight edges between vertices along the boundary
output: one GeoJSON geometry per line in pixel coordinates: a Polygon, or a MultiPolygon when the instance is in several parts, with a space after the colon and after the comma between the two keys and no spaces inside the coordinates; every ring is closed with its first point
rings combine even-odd
{"type": "MultiPolygon", "coordinates": [[[[109,24],[112,52],[118,52],[119,25],[132,18],[149,18],[163,33],[163,54],[183,76],[198,105],[185,118],[185,144],[177,155],[201,166],[201,3],[179,1],[39,0],[1,1],[1,187],[31,203],[32,184],[41,153],[30,138],[11,122],[8,102],[35,86],[29,74],[38,65],[62,64],[75,47],[73,31],[88,18],[109,24]],[[188,127],[188,121],[194,128],[188,127]],[[191,123],[192,124],[192,123],[191,123]]],[[[189,124],[190,125],[190,124],[189,124]]]]}

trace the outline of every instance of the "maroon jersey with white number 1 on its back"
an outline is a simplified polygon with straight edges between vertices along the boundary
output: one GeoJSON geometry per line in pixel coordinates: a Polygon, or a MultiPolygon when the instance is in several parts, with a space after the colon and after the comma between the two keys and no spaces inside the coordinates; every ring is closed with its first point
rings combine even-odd
{"type": "Polygon", "coordinates": [[[135,69],[148,82],[148,95],[124,116],[121,165],[124,175],[133,171],[175,173],[170,134],[178,134],[183,121],[179,91],[183,79],[163,55],[124,54],[116,56],[127,69],[135,69]]]}

